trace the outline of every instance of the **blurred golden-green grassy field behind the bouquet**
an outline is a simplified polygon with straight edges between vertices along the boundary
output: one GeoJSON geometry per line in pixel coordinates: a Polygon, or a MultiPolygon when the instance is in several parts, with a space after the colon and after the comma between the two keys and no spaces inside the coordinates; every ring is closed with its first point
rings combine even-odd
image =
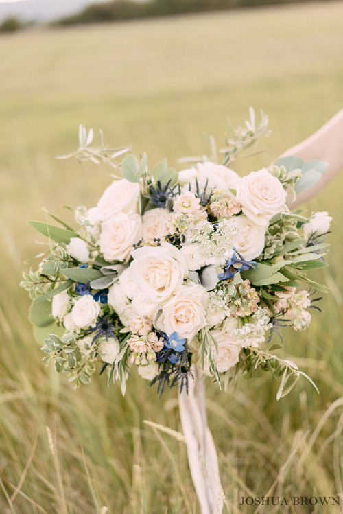
{"type": "MultiPolygon", "coordinates": [[[[54,159],[75,149],[80,122],[180,168],[180,156],[206,152],[204,130],[222,143],[226,115],[240,123],[262,107],[265,152],[234,167],[270,163],[342,108],[342,19],[343,3],[325,2],[1,36],[1,514],[200,512],[184,445],[143,423],[180,430],[175,390],[160,401],[134,375],[124,399],[97,377],[74,392],[45,369],[18,285],[40,250],[25,220],[43,220],[41,207],[70,219],[62,205],[91,207],[109,183],[107,170],[54,159]]],[[[263,374],[228,393],[208,384],[227,512],[340,512],[239,498],[343,493],[342,187],[341,176],[305,206],[334,215],[322,274],[333,294],[307,333],[285,332],[285,354],[320,395],[303,380],[276,402],[263,374]]]]}

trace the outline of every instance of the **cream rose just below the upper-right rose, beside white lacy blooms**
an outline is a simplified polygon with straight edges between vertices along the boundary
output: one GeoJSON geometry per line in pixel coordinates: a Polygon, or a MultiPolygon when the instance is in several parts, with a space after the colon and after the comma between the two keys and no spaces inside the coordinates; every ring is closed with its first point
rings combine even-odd
{"type": "Polygon", "coordinates": [[[246,261],[261,255],[265,244],[265,226],[257,225],[244,214],[230,218],[227,224],[236,229],[233,246],[246,261]]]}

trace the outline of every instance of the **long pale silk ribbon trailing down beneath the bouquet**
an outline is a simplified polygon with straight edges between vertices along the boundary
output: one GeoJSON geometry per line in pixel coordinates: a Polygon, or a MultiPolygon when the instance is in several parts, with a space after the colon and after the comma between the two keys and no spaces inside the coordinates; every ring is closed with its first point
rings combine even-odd
{"type": "Polygon", "coordinates": [[[224,493],[220,482],[217,452],[207,426],[204,376],[192,368],[194,380],[179,394],[180,418],[185,434],[189,468],[202,514],[220,514],[224,493]]]}

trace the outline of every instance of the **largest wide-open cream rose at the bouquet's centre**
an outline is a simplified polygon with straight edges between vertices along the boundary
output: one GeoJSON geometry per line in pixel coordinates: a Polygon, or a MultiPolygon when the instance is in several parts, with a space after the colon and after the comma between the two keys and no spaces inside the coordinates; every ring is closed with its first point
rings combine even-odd
{"type": "Polygon", "coordinates": [[[155,303],[167,300],[187,276],[185,257],[170,243],[143,246],[132,257],[130,278],[155,303]]]}

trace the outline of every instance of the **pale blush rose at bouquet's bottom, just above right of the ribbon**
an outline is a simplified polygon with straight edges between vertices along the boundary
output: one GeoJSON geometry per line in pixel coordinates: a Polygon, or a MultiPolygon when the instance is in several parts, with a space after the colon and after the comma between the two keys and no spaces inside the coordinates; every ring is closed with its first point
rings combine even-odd
{"type": "MultiPolygon", "coordinates": [[[[218,346],[217,351],[215,344],[213,343],[211,345],[215,364],[217,364],[218,371],[224,373],[224,371],[233,368],[239,361],[241,345],[222,330],[211,330],[211,335],[215,338],[218,346]]],[[[204,361],[204,373],[209,375],[209,367],[206,358],[204,361]]]]}

